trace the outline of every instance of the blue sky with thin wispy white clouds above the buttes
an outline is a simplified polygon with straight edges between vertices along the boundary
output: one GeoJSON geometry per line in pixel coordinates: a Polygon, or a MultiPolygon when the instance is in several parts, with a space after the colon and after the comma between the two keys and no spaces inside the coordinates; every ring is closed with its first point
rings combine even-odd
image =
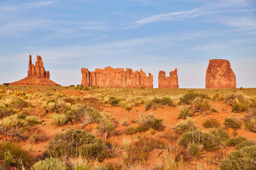
{"type": "Polygon", "coordinates": [[[0,83],[41,55],[50,79],[81,84],[81,68],[152,73],[178,68],[180,88],[205,88],[210,59],[237,87],[256,87],[255,0],[0,0],[0,83]]]}

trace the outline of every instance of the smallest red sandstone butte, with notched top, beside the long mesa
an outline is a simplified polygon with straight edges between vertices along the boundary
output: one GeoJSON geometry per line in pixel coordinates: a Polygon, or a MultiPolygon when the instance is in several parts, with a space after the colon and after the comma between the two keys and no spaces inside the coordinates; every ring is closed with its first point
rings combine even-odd
{"type": "Polygon", "coordinates": [[[178,88],[177,68],[169,73],[166,77],[166,72],[160,70],[158,74],[158,88],[178,88]]]}

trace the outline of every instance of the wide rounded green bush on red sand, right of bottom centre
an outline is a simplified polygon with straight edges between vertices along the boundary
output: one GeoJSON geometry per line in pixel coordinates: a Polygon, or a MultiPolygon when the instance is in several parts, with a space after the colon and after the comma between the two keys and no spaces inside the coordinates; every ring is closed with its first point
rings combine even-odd
{"type": "Polygon", "coordinates": [[[212,133],[203,133],[201,130],[187,131],[181,136],[179,145],[187,147],[190,143],[203,145],[204,150],[212,151],[218,148],[218,140],[212,133]]]}

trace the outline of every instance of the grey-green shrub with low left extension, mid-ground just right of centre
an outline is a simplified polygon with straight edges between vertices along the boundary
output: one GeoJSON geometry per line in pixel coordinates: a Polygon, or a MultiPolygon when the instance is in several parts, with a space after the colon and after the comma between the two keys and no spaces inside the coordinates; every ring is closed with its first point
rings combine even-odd
{"type": "Polygon", "coordinates": [[[139,118],[138,124],[139,127],[130,127],[126,130],[127,134],[143,133],[150,128],[153,130],[163,130],[163,119],[156,118],[154,113],[148,115],[141,115],[139,118]]]}

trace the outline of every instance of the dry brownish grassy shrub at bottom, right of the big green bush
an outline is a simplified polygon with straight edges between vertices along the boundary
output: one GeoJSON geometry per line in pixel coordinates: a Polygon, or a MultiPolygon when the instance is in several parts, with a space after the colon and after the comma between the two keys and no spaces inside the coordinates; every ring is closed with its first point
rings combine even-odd
{"type": "Polygon", "coordinates": [[[125,155],[123,156],[123,161],[130,165],[135,163],[145,163],[148,152],[154,149],[163,149],[165,145],[159,139],[141,138],[136,142],[124,142],[123,148],[125,150],[125,155]]]}

